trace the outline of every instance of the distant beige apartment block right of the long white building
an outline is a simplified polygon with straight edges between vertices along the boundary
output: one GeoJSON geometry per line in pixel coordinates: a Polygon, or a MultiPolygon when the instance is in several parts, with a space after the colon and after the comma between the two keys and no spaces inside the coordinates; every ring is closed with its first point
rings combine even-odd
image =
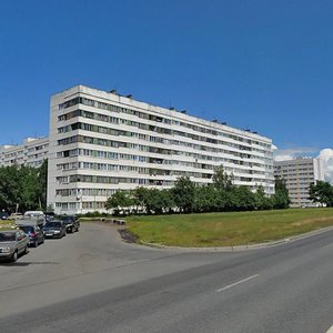
{"type": "Polygon", "coordinates": [[[321,159],[295,158],[287,161],[275,161],[274,175],[285,180],[291,206],[315,205],[309,200],[309,188],[311,183],[324,180],[321,159]]]}

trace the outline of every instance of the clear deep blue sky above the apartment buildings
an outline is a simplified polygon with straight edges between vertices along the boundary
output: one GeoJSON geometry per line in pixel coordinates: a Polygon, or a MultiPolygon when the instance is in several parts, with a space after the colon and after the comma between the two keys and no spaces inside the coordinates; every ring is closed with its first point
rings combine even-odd
{"type": "Polygon", "coordinates": [[[0,144],[47,135],[75,84],[332,148],[333,2],[0,1],[0,144]]]}

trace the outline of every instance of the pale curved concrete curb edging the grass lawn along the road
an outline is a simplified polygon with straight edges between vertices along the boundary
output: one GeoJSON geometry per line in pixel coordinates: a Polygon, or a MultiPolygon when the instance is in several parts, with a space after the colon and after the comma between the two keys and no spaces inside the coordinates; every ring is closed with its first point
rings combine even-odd
{"type": "Polygon", "coordinates": [[[184,252],[241,252],[241,251],[249,251],[249,250],[260,250],[260,249],[268,249],[278,245],[283,245],[287,243],[292,243],[295,241],[300,241],[303,239],[307,239],[324,232],[333,231],[333,226],[327,226],[319,230],[313,230],[303,234],[294,235],[287,239],[265,242],[265,243],[258,243],[258,244],[250,244],[250,245],[236,245],[236,246],[222,246],[222,248],[181,248],[181,246],[167,246],[163,244],[154,244],[141,241],[140,244],[155,248],[155,249],[164,249],[164,250],[178,250],[184,252]]]}

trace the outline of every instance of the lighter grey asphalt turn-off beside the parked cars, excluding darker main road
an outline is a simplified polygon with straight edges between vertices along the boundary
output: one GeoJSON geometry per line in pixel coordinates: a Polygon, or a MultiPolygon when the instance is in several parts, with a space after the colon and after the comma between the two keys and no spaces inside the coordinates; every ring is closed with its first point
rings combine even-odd
{"type": "MultiPolygon", "coordinates": [[[[115,225],[81,223],[79,232],[47,239],[16,263],[0,263],[0,319],[131,284],[206,262],[182,252],[124,243],[115,225]]],[[[209,261],[213,260],[210,258],[209,261]]]]}

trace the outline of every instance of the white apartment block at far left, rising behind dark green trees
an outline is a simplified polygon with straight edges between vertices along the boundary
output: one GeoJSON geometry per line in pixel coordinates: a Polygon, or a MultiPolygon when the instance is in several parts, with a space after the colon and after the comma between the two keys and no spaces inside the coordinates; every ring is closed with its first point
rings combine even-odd
{"type": "Polygon", "coordinates": [[[48,154],[49,138],[27,138],[22,144],[0,145],[0,167],[24,164],[38,168],[48,154]]]}

